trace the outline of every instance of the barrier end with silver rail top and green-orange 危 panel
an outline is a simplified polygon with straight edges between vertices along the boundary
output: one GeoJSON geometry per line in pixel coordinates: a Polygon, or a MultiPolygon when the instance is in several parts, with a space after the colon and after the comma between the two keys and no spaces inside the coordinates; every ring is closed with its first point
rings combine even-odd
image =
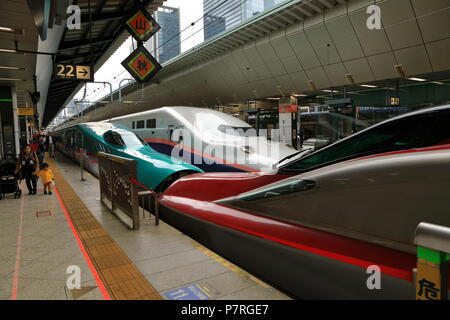
{"type": "Polygon", "coordinates": [[[414,244],[417,245],[416,299],[447,300],[450,228],[421,222],[416,228],[414,244]]]}

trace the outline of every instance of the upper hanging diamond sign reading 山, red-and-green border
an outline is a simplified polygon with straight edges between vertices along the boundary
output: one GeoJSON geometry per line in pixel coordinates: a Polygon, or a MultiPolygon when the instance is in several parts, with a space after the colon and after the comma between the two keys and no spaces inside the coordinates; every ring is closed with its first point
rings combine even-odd
{"type": "Polygon", "coordinates": [[[129,17],[125,23],[125,28],[137,41],[147,41],[161,29],[160,25],[144,8],[139,8],[129,17]]]}

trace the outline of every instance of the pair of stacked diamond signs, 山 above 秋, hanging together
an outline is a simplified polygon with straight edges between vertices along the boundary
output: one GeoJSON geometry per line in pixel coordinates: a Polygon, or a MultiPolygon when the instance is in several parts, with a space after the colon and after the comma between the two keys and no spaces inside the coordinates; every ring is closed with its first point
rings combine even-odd
{"type": "Polygon", "coordinates": [[[122,66],[139,83],[151,80],[161,69],[158,61],[144,48],[143,41],[147,41],[158,32],[161,27],[145,8],[139,7],[127,19],[125,27],[138,42],[138,47],[123,62],[122,66]]]}

